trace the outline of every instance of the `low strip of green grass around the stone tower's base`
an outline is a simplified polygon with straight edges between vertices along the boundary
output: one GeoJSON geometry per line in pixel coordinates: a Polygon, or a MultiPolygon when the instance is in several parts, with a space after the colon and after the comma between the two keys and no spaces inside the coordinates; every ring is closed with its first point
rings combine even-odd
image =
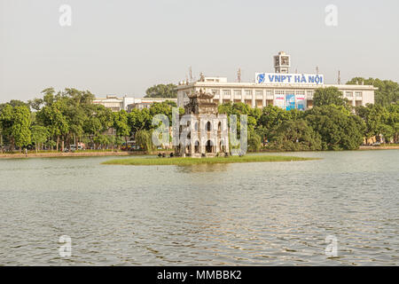
{"type": "Polygon", "coordinates": [[[118,159],[103,162],[107,165],[194,165],[194,164],[210,164],[210,163],[234,163],[234,162],[293,162],[293,161],[309,161],[317,160],[315,158],[293,157],[293,156],[272,156],[272,155],[246,155],[246,156],[229,156],[215,158],[131,158],[118,159]]]}

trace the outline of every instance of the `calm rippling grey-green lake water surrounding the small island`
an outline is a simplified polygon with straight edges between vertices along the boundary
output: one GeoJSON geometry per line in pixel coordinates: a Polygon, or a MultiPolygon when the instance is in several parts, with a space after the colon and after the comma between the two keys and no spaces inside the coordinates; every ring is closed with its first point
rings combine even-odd
{"type": "Polygon", "coordinates": [[[0,264],[399,264],[399,150],[287,155],[323,160],[0,160],[0,264]]]}

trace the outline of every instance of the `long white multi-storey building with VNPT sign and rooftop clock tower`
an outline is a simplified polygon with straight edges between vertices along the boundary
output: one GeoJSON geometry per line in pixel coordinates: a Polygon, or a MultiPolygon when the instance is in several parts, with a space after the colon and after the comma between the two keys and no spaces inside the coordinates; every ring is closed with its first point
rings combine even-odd
{"type": "Polygon", "coordinates": [[[176,88],[177,106],[184,107],[188,95],[196,91],[215,94],[214,101],[223,103],[246,103],[252,107],[280,106],[309,109],[313,106],[313,94],[317,88],[336,87],[352,106],[365,106],[374,103],[371,85],[325,84],[323,75],[289,74],[289,55],[279,52],[274,57],[275,73],[257,73],[255,83],[229,83],[225,77],[201,76],[198,82],[181,82],[176,88]]]}

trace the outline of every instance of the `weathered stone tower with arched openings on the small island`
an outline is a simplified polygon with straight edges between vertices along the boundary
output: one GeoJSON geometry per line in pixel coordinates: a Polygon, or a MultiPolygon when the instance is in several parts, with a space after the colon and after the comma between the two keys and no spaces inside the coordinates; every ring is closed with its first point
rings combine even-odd
{"type": "Polygon", "coordinates": [[[190,101],[180,115],[179,127],[173,130],[174,138],[179,138],[176,155],[200,158],[229,154],[227,115],[218,114],[214,96],[202,89],[188,95],[190,101]]]}

